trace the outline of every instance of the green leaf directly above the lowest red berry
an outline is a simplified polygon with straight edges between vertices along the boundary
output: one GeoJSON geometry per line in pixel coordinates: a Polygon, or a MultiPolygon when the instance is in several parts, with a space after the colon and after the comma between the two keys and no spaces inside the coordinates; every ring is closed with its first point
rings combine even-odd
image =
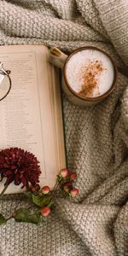
{"type": "Polygon", "coordinates": [[[50,198],[48,195],[39,196],[32,195],[32,202],[38,207],[44,207],[49,204],[50,198]]]}

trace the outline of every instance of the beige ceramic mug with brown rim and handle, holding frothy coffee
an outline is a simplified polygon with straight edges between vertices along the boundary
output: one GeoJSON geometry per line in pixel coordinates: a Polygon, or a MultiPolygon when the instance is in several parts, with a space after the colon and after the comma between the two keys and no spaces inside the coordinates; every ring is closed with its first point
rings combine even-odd
{"type": "MultiPolygon", "coordinates": [[[[93,46],[87,46],[87,47],[82,47],[82,48],[74,50],[73,53],[70,55],[65,55],[63,52],[61,52],[60,49],[57,49],[55,47],[51,48],[49,51],[50,51],[49,61],[52,62],[56,67],[62,68],[61,86],[62,86],[62,89],[64,90],[64,92],[66,93],[67,99],[70,102],[73,102],[74,104],[79,105],[79,106],[95,105],[98,102],[101,102],[102,100],[104,100],[113,91],[113,89],[117,83],[117,79],[118,79],[117,67],[115,66],[111,56],[108,55],[108,53],[106,53],[102,49],[98,49],[93,46]],[[93,52],[95,50],[95,51],[97,51],[98,54],[102,53],[103,55],[105,55],[108,58],[108,60],[111,62],[111,65],[113,66],[112,84],[109,86],[107,91],[105,91],[103,94],[100,94],[98,96],[86,96],[86,95],[82,95],[82,94],[76,92],[76,90],[73,90],[73,86],[71,86],[69,80],[67,79],[67,66],[69,66],[69,61],[71,61],[71,59],[73,60],[74,55],[76,57],[76,54],[78,54],[79,52],[86,50],[86,49],[90,49],[91,52],[93,52]]],[[[95,67],[95,69],[96,69],[96,67],[95,67]]],[[[90,71],[91,71],[91,69],[90,69],[90,71]]],[[[92,76],[92,74],[91,74],[91,76],[92,76]]],[[[108,74],[108,76],[109,76],[109,74],[108,74]]],[[[84,75],[84,78],[86,79],[85,84],[87,84],[87,76],[84,75]]],[[[102,83],[102,86],[103,86],[103,84],[104,83],[102,83]]]]}

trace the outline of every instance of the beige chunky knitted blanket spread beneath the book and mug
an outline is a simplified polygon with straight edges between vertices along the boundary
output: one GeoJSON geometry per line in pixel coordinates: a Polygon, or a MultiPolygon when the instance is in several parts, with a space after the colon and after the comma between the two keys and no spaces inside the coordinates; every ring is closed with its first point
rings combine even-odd
{"type": "MultiPolygon", "coordinates": [[[[128,255],[128,1],[0,0],[0,44],[93,45],[119,68],[111,96],[79,108],[63,97],[68,168],[80,194],[36,226],[0,227],[0,256],[128,255]]],[[[0,203],[9,215],[18,197],[0,203]]]]}

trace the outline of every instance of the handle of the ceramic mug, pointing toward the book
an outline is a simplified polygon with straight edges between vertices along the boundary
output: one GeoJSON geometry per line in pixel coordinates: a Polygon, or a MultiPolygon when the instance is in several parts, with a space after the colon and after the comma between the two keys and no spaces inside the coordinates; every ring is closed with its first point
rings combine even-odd
{"type": "Polygon", "coordinates": [[[67,55],[65,55],[60,49],[56,47],[51,47],[49,49],[49,61],[56,67],[63,68],[66,60],[67,55]]]}

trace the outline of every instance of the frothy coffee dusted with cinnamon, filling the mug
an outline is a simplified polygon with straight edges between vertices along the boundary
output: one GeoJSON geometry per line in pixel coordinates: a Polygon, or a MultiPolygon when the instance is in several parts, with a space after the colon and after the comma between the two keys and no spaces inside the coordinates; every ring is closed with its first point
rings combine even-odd
{"type": "Polygon", "coordinates": [[[113,84],[113,62],[98,49],[82,49],[67,61],[66,76],[79,96],[102,96],[113,84]]]}

